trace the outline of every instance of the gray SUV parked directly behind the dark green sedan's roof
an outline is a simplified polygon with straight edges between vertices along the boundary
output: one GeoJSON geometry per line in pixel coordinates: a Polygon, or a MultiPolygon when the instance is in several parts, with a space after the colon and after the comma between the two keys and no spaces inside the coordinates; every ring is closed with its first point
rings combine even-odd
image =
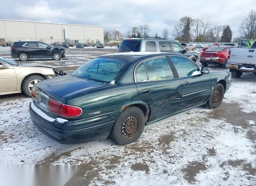
{"type": "Polygon", "coordinates": [[[196,62],[198,54],[188,54],[187,50],[181,44],[175,41],[164,40],[159,38],[132,38],[122,41],[118,52],[176,52],[185,55],[192,61],[196,62]]]}

